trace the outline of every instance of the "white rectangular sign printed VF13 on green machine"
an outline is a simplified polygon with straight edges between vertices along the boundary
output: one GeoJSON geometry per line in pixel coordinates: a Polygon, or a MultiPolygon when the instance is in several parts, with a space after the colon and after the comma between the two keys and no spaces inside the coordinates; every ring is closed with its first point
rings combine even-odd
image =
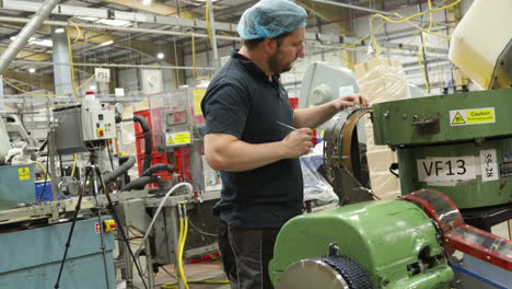
{"type": "Polygon", "coordinates": [[[417,160],[419,182],[476,178],[475,157],[426,158],[417,160]]]}

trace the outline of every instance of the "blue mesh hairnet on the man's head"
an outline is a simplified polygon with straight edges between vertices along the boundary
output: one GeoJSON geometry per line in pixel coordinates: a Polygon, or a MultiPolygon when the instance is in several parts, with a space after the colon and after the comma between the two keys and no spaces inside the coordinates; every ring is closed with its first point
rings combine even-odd
{"type": "Polygon", "coordinates": [[[243,39],[276,37],[305,27],[306,11],[288,0],[261,0],[245,10],[237,32],[243,39]]]}

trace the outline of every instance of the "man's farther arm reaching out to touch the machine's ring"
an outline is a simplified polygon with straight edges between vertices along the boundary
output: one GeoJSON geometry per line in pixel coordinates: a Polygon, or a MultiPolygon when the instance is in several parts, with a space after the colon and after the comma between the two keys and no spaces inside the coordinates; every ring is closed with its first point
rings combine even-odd
{"type": "Polygon", "coordinates": [[[369,105],[370,101],[362,94],[348,94],[312,108],[295,109],[293,125],[315,128],[329,120],[335,114],[356,104],[369,105]]]}

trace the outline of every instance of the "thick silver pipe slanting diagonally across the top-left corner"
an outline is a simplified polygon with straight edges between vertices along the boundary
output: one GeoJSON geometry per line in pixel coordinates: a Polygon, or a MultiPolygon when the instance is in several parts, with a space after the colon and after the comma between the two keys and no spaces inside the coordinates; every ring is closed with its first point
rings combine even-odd
{"type": "Polygon", "coordinates": [[[26,45],[28,38],[36,32],[40,24],[49,16],[51,10],[59,3],[59,0],[46,0],[42,8],[34,14],[32,19],[26,20],[26,25],[18,34],[16,38],[9,45],[0,57],[0,74],[7,69],[12,59],[26,45]]]}

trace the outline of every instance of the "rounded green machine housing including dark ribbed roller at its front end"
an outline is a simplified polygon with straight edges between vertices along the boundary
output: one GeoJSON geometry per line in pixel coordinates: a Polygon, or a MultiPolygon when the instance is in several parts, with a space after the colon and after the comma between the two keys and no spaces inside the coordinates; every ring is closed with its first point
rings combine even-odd
{"type": "Polygon", "coordinates": [[[405,201],[363,201],[296,217],[269,265],[279,289],[449,288],[431,219],[405,201]]]}

